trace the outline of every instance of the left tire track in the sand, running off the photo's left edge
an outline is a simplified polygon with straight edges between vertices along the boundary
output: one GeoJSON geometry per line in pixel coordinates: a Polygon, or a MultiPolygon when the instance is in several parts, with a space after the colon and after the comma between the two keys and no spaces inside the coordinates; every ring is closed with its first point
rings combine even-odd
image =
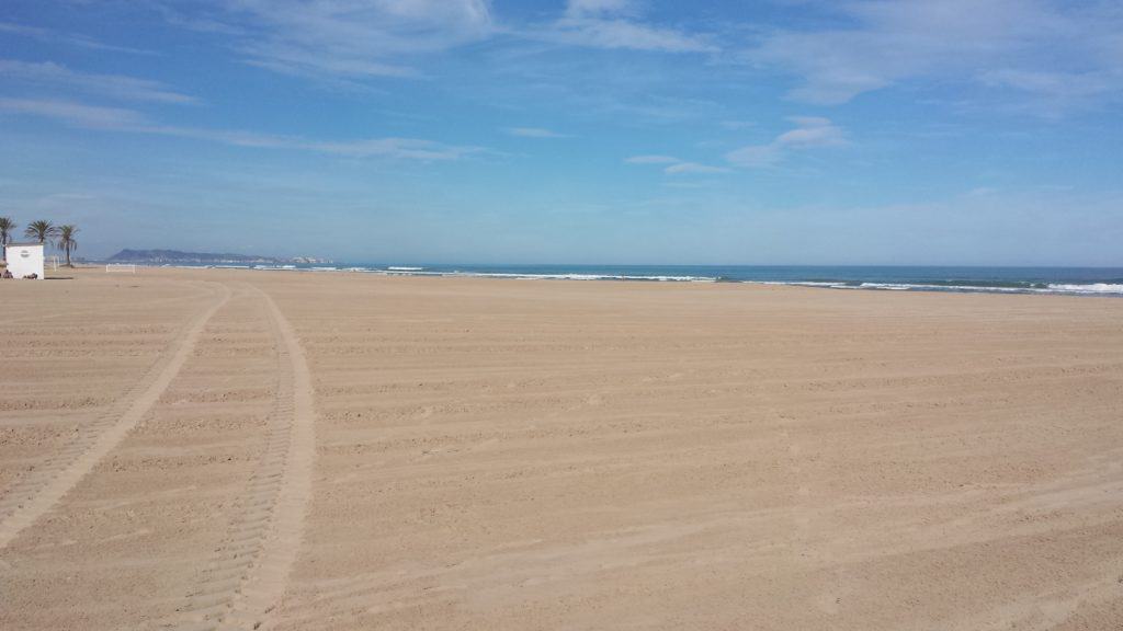
{"type": "Polygon", "coordinates": [[[174,353],[162,355],[95,421],[80,428],[70,445],[8,490],[0,500],[0,550],[62,500],[144,419],[194,351],[203,327],[230,299],[230,290],[218,286],[217,300],[168,345],[174,353]]]}

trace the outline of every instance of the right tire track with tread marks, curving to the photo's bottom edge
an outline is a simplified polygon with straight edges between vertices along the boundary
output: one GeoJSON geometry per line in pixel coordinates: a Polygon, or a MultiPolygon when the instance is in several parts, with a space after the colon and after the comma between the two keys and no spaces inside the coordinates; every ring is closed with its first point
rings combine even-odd
{"type": "Polygon", "coordinates": [[[259,629],[284,595],[312,492],[312,378],[295,333],[262,294],[277,346],[277,386],[264,454],[199,586],[179,607],[177,631],[259,629]]]}

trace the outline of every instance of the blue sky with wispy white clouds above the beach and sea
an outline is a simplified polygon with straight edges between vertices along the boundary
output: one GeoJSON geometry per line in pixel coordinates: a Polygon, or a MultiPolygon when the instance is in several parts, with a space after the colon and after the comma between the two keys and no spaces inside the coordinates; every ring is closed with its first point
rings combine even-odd
{"type": "Polygon", "coordinates": [[[4,0],[81,256],[1123,266],[1123,2],[4,0]]]}

